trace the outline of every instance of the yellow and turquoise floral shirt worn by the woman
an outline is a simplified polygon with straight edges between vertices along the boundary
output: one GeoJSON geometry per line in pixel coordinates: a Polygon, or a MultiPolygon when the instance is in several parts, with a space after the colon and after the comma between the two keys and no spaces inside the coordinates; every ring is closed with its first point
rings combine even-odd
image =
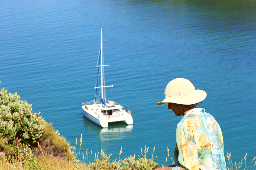
{"type": "Polygon", "coordinates": [[[226,170],[219,124],[204,109],[187,112],[176,129],[173,170],[226,170]]]}

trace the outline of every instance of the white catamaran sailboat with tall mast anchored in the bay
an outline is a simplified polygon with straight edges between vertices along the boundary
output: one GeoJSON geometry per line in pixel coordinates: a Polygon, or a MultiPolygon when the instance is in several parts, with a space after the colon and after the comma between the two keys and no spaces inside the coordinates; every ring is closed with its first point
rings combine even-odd
{"type": "Polygon", "coordinates": [[[105,76],[104,76],[104,58],[103,58],[103,44],[102,44],[102,29],[101,29],[101,42],[100,42],[100,52],[97,61],[98,76],[96,81],[95,99],[91,102],[83,103],[82,109],[84,116],[95,124],[101,126],[102,128],[107,128],[108,123],[123,121],[128,125],[133,124],[133,119],[131,116],[131,111],[115,103],[114,101],[106,100],[106,87],[113,87],[113,85],[105,86],[105,76]],[[99,74],[101,75],[101,85],[98,86],[99,74]],[[100,89],[101,98],[97,96],[97,89],[100,89]]]}

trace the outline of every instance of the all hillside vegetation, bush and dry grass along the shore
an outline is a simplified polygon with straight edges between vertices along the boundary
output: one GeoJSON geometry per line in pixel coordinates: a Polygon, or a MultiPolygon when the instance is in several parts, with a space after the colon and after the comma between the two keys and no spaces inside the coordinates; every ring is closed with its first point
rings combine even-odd
{"type": "MultiPolygon", "coordinates": [[[[136,155],[125,159],[111,159],[111,155],[102,150],[99,153],[80,153],[82,135],[79,149],[66,142],[52,124],[45,122],[40,113],[32,113],[31,105],[20,100],[20,96],[7,94],[7,90],[0,92],[0,169],[2,170],[153,170],[159,167],[154,162],[155,147],[151,158],[147,158],[149,147],[141,148],[141,155],[135,160],[136,155]]],[[[170,164],[169,149],[167,148],[168,162],[170,164]]],[[[238,163],[233,164],[231,153],[227,153],[228,170],[254,170],[256,157],[246,165],[246,156],[238,163]],[[254,165],[254,166],[253,166],[254,165]]],[[[172,160],[172,158],[171,158],[172,160]]],[[[172,162],[173,164],[173,162],[172,162]]],[[[162,165],[161,165],[162,166],[162,165]]],[[[166,166],[166,165],[165,165],[166,166]]]]}

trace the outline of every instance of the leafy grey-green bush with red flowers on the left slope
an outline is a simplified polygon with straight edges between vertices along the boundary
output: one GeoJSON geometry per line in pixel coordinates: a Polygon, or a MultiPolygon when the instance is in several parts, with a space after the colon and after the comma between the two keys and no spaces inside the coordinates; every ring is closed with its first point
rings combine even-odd
{"type": "Polygon", "coordinates": [[[8,93],[4,88],[0,92],[0,137],[7,138],[8,143],[16,145],[15,154],[28,154],[30,146],[36,146],[42,135],[40,113],[32,113],[32,105],[20,96],[8,93]]]}

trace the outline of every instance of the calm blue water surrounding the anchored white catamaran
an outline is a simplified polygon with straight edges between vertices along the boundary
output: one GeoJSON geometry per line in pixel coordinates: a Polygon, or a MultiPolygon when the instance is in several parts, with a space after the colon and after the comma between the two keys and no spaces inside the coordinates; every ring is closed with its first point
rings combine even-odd
{"type": "MultiPolygon", "coordinates": [[[[81,152],[113,159],[145,145],[165,165],[181,117],[156,106],[167,83],[189,79],[207,97],[199,107],[220,124],[232,160],[256,156],[255,0],[1,0],[0,88],[17,92],[81,152]],[[83,117],[94,99],[100,29],[107,98],[134,124],[102,129],[83,117]],[[79,143],[79,142],[78,142],[79,143]]],[[[151,157],[151,153],[148,154],[151,157]]]]}

